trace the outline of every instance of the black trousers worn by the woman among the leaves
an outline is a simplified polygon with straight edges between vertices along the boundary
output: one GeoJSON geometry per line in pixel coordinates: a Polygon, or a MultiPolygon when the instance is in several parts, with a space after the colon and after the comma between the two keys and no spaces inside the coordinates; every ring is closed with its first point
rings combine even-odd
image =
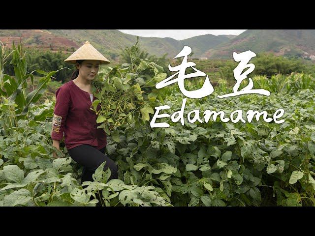
{"type": "Polygon", "coordinates": [[[95,173],[97,167],[99,167],[104,161],[104,171],[107,168],[111,171],[111,176],[108,181],[113,178],[118,178],[118,167],[116,163],[105,154],[105,148],[98,150],[96,147],[90,145],[80,145],[68,150],[70,157],[78,164],[83,166],[81,184],[84,181],[94,181],[92,175],[95,173]]]}

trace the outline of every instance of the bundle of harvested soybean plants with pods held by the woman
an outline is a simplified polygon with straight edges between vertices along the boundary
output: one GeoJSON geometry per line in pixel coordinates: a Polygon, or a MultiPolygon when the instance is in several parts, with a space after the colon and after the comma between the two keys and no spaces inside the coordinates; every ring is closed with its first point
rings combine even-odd
{"type": "Polygon", "coordinates": [[[116,129],[123,125],[146,123],[149,114],[154,114],[152,107],[160,105],[155,85],[166,78],[163,67],[135,58],[136,45],[129,50],[131,63],[106,67],[93,81],[97,99],[91,110],[98,115],[97,128],[103,128],[107,134],[116,134],[116,129]],[[101,110],[96,111],[98,104],[101,110]]]}

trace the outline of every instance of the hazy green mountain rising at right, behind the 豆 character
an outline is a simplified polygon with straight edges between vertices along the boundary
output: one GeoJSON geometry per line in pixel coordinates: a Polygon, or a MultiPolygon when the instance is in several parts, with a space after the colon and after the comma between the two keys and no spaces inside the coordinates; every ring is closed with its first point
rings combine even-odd
{"type": "Polygon", "coordinates": [[[315,59],[314,29],[249,29],[202,54],[209,59],[232,59],[233,52],[251,50],[277,56],[315,59]]]}

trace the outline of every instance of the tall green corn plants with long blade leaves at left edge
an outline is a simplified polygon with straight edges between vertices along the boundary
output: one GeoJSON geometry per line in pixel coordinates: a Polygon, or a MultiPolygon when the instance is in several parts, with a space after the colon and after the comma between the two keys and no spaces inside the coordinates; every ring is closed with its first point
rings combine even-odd
{"type": "Polygon", "coordinates": [[[19,119],[26,119],[29,116],[34,117],[32,113],[34,104],[40,99],[48,88],[51,77],[58,71],[49,73],[40,69],[35,70],[43,77],[39,78],[37,88],[31,92],[27,92],[27,79],[30,77],[33,86],[33,74],[27,72],[27,62],[25,53],[21,44],[16,48],[13,44],[12,61],[14,68],[14,76],[2,74],[0,85],[2,120],[1,126],[3,131],[9,134],[13,128],[17,127],[19,119]]]}

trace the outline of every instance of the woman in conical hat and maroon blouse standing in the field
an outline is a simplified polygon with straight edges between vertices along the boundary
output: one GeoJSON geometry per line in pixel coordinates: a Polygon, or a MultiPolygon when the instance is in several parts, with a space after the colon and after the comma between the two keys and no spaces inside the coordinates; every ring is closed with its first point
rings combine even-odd
{"type": "MultiPolygon", "coordinates": [[[[92,81],[97,76],[99,64],[110,63],[88,41],[65,59],[76,63],[77,70],[71,80],[56,91],[56,105],[51,137],[53,146],[60,150],[63,138],[70,157],[83,166],[81,183],[94,181],[92,175],[97,167],[106,161],[104,171],[111,171],[109,178],[118,178],[118,168],[113,160],[105,155],[106,133],[97,129],[97,115],[90,108],[95,100],[92,81]]],[[[100,110],[100,104],[97,111],[100,110]]],[[[56,153],[53,153],[56,158],[56,153]]]]}

